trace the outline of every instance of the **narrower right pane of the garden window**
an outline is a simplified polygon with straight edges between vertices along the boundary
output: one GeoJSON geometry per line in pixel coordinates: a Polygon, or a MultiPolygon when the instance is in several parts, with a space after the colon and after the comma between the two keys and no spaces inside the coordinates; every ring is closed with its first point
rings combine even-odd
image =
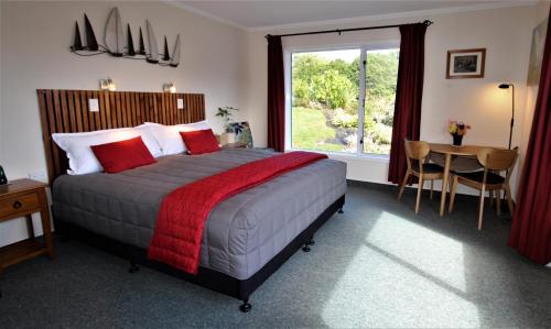
{"type": "Polygon", "coordinates": [[[365,153],[390,154],[398,54],[398,50],[367,52],[364,110],[365,153]]]}

